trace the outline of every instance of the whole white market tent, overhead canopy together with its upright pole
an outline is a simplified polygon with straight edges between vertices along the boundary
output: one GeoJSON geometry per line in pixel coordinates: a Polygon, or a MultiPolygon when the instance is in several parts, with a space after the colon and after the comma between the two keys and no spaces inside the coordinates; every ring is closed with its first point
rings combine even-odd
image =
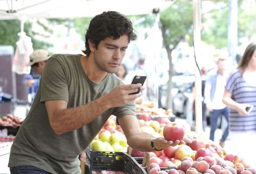
{"type": "MultiPolygon", "coordinates": [[[[0,20],[21,20],[21,33],[27,18],[94,17],[103,11],[124,15],[150,14],[170,7],[175,0],[0,0],[0,20]]],[[[195,57],[200,59],[200,0],[193,0],[195,57]]],[[[200,72],[195,67],[196,98],[201,98],[200,72]]],[[[196,132],[202,132],[201,101],[196,102],[196,132]]]]}

